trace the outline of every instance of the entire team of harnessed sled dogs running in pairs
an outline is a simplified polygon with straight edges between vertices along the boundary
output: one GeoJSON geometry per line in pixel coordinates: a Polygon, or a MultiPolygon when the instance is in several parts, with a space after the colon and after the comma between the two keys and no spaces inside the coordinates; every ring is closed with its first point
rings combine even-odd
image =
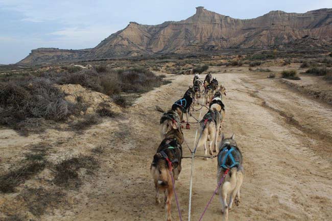
{"type": "Polygon", "coordinates": [[[198,122],[199,139],[197,148],[204,146],[204,160],[209,155],[214,155],[218,147],[218,174],[217,183],[223,177],[218,193],[222,205],[224,220],[228,220],[228,210],[232,203],[236,206],[240,203],[240,187],[243,182],[244,169],[242,166],[242,154],[235,141],[234,134],[230,138],[225,138],[221,133],[221,124],[225,118],[225,106],[223,104],[223,95],[226,95],[226,89],[220,85],[218,80],[212,78],[208,73],[201,81],[196,73],[193,80],[193,86],[185,91],[183,97],[174,102],[169,111],[163,111],[160,107],[157,110],[163,112],[160,118],[160,137],[162,139],[157,153],[153,156],[151,164],[151,174],[156,189],[155,201],[160,203],[159,192],[164,193],[164,203],[166,210],[166,220],[171,220],[171,201],[174,194],[175,180],[179,179],[181,172],[182,143],[184,136],[182,124],[186,123],[186,129],[190,129],[188,114],[195,105],[202,105],[208,108],[207,113],[198,122]],[[203,88],[201,88],[203,87],[203,88]],[[201,90],[202,89],[202,90],[201,90]],[[199,99],[205,98],[205,105],[199,103],[199,99]],[[186,115],[186,121],[183,115],[186,115]],[[221,137],[218,146],[218,136],[221,137]],[[209,141],[208,149],[206,142],[209,141]],[[228,172],[228,173],[227,173],[228,172]],[[229,201],[227,202],[227,198],[229,201]]]}

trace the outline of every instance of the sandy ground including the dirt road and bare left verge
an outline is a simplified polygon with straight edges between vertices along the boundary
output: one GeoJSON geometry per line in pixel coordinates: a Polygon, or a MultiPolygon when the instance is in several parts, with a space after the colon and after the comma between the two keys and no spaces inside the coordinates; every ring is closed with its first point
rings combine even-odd
{"type": "MultiPolygon", "coordinates": [[[[235,134],[244,158],[241,203],[232,208],[229,219],[330,220],[331,106],[301,91],[313,87],[310,81],[317,84],[320,79],[301,76],[301,83],[293,83],[243,69],[210,68],[212,76],[227,90],[222,132],[226,137],[235,134]]],[[[44,148],[45,158],[53,164],[77,155],[92,156],[99,163],[98,168],[80,168],[81,182],[66,188],[52,183],[52,167],[46,166],[16,187],[16,193],[0,194],[0,220],[163,220],[164,205],[155,204],[150,175],[150,164],[161,141],[161,113],[155,106],[170,108],[191,85],[193,76],[167,75],[167,79],[172,83],[141,94],[132,107],[120,110],[120,117],[103,118],[83,133],[50,129],[41,135],[20,136],[3,128],[0,151],[4,170],[36,146],[44,148]]],[[[325,84],[322,88],[331,90],[331,85],[325,84]]],[[[202,115],[205,112],[203,108],[202,115]]],[[[193,115],[198,118],[200,112],[193,115]]],[[[195,120],[191,117],[190,121],[195,120]]],[[[191,148],[196,129],[196,124],[184,129],[191,148]]],[[[203,155],[203,148],[197,154],[203,155]]],[[[185,144],[183,155],[190,155],[185,144]]],[[[191,160],[183,159],[176,191],[184,220],[190,170],[191,160]]],[[[216,158],[195,158],[192,220],[198,220],[203,212],[216,188],[216,176],[216,158]]],[[[174,198],[172,217],[179,220],[174,198]]],[[[203,220],[221,217],[217,196],[203,220]]]]}

